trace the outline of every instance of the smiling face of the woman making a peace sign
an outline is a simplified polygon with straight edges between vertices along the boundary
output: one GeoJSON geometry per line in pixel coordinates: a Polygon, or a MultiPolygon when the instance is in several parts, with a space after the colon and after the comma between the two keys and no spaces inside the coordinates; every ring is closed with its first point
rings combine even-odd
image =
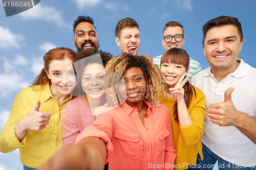
{"type": "Polygon", "coordinates": [[[187,71],[182,64],[164,62],[160,66],[160,75],[169,87],[175,87],[181,76],[187,71]]]}

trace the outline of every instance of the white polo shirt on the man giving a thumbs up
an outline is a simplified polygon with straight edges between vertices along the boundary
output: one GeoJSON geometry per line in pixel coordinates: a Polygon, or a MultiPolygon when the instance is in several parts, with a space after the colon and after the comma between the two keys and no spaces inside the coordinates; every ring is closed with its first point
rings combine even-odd
{"type": "MultiPolygon", "coordinates": [[[[210,67],[193,76],[191,84],[205,93],[205,107],[211,103],[224,101],[224,93],[233,87],[231,99],[238,111],[256,118],[256,69],[238,59],[238,68],[218,82],[210,72],[210,67]]],[[[256,164],[256,144],[234,126],[221,127],[210,122],[207,116],[204,120],[204,135],[202,142],[212,152],[222,159],[241,166],[256,164]]],[[[256,129],[255,129],[256,133],[256,129]]]]}

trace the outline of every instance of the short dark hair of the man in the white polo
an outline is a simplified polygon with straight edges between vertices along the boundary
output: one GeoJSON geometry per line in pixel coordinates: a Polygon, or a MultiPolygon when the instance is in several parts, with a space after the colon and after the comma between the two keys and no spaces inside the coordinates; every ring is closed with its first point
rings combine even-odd
{"type": "Polygon", "coordinates": [[[220,27],[220,26],[226,26],[226,25],[234,25],[238,28],[238,35],[240,36],[240,42],[242,42],[243,38],[243,31],[241,27],[241,22],[239,22],[238,18],[231,17],[231,16],[219,16],[217,18],[211,19],[208,22],[205,23],[203,26],[203,46],[204,46],[204,40],[206,37],[206,33],[214,28],[214,27],[220,27]]]}

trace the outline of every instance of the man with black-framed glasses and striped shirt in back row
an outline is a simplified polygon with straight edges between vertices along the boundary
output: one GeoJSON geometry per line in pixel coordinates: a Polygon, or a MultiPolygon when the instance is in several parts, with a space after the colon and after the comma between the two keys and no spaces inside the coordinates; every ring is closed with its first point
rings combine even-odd
{"type": "MultiPolygon", "coordinates": [[[[183,26],[176,21],[167,22],[163,29],[163,39],[161,41],[165,51],[168,51],[170,48],[182,48],[182,45],[185,43],[183,26]]],[[[153,58],[153,62],[157,64],[159,68],[161,58],[162,55],[153,58]]],[[[201,70],[202,68],[199,62],[190,58],[188,74],[195,75],[201,70]]],[[[189,81],[190,79],[191,77],[189,81]]]]}

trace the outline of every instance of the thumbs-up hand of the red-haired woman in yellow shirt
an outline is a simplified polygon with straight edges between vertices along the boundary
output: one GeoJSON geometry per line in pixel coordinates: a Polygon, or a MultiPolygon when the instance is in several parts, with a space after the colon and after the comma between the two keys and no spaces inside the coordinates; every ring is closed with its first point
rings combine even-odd
{"type": "Polygon", "coordinates": [[[39,112],[40,101],[31,109],[29,115],[21,120],[15,126],[15,134],[19,141],[27,135],[28,130],[39,131],[49,124],[50,113],[39,112]]]}

